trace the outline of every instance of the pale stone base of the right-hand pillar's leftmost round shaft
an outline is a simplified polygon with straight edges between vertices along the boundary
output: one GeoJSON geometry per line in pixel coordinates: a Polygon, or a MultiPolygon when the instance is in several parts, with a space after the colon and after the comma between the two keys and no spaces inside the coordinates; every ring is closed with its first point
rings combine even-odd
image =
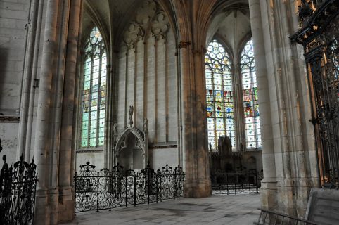
{"type": "Polygon", "coordinates": [[[263,179],[261,181],[260,188],[260,197],[261,197],[261,207],[264,210],[274,210],[276,207],[276,181],[269,181],[263,179]]]}

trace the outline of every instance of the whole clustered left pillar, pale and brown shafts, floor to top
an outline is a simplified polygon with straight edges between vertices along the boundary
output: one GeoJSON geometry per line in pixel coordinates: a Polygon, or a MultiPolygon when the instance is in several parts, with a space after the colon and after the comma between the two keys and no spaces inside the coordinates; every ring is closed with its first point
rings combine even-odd
{"type": "Polygon", "coordinates": [[[35,224],[74,218],[74,105],[82,0],[46,1],[35,121],[35,224]],[[62,50],[61,50],[62,49],[62,50]],[[66,51],[63,51],[66,49],[66,51]]]}

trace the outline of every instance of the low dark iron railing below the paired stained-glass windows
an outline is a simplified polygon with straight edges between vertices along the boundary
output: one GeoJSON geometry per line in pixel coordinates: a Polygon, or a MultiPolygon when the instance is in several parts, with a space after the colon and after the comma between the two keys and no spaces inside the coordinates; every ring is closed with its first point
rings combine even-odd
{"type": "Polygon", "coordinates": [[[236,195],[240,193],[259,193],[262,172],[224,172],[215,171],[210,175],[212,195],[236,195]]]}

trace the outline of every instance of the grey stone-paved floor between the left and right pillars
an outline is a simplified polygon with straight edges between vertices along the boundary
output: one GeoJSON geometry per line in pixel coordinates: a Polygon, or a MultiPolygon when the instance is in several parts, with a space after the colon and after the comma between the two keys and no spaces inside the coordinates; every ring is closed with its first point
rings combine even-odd
{"type": "Polygon", "coordinates": [[[260,211],[260,195],[219,195],[178,198],[151,205],[121,207],[111,212],[77,213],[75,224],[253,224],[260,211]]]}

